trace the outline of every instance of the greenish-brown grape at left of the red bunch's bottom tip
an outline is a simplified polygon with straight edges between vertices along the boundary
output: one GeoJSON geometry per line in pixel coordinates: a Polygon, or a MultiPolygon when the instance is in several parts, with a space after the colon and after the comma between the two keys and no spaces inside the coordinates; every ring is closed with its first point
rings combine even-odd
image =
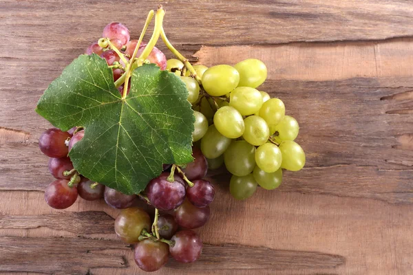
{"type": "Polygon", "coordinates": [[[145,210],[137,207],[120,211],[115,220],[115,232],[124,243],[137,243],[140,232],[151,228],[151,217],[145,210]]]}

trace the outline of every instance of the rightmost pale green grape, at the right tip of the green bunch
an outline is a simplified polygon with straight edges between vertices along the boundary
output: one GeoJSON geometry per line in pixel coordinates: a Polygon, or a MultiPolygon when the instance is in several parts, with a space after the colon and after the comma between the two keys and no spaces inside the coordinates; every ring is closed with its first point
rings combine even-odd
{"type": "Polygon", "coordinates": [[[281,168],[290,171],[298,171],[306,164],[306,154],[303,148],[296,142],[286,140],[279,144],[279,150],[282,153],[281,168]]]}

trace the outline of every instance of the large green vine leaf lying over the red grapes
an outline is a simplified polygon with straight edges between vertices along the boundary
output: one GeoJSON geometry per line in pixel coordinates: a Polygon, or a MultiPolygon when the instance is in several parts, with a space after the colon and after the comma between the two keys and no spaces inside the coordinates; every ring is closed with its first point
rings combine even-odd
{"type": "Polygon", "coordinates": [[[142,191],[162,164],[191,162],[193,111],[184,83],[156,65],[131,77],[122,99],[112,69],[96,54],[82,55],[53,81],[37,113],[67,131],[84,126],[70,151],[81,175],[126,194],[142,191]]]}

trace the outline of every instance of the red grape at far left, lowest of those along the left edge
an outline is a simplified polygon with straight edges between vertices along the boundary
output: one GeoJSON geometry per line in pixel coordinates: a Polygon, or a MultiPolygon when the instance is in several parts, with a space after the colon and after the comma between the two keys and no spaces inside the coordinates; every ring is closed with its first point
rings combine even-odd
{"type": "Polygon", "coordinates": [[[66,179],[56,179],[45,190],[45,201],[54,209],[65,209],[73,205],[78,192],[76,186],[69,187],[66,179]]]}

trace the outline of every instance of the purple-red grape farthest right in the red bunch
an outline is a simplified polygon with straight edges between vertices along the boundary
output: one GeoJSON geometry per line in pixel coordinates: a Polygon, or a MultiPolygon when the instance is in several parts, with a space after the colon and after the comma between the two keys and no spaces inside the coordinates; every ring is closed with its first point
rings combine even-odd
{"type": "Polygon", "coordinates": [[[215,197],[215,188],[204,179],[196,179],[193,186],[187,187],[187,199],[196,207],[205,207],[213,201],[215,197]]]}

